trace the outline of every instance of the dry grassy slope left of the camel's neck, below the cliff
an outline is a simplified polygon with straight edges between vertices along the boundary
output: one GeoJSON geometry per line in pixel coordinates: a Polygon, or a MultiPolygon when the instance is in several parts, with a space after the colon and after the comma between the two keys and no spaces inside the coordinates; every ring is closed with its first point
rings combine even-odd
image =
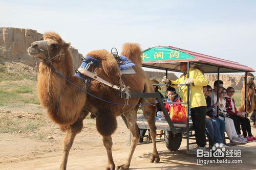
{"type": "Polygon", "coordinates": [[[38,104],[36,71],[22,63],[1,62],[0,106],[38,104]]]}

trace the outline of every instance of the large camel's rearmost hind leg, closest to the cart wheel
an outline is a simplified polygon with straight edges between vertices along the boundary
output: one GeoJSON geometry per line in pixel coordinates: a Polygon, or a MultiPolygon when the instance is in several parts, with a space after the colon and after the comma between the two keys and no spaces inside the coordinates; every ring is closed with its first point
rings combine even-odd
{"type": "MultiPolygon", "coordinates": [[[[145,101],[144,99],[141,99],[141,103],[148,103],[148,102],[154,102],[154,101],[155,99],[147,100],[147,101],[145,101]]],[[[160,158],[159,158],[157,146],[156,146],[156,136],[157,136],[156,107],[152,105],[145,105],[143,106],[142,110],[143,110],[144,116],[146,117],[148,126],[150,126],[150,135],[153,142],[153,152],[152,152],[152,158],[150,162],[159,163],[160,158]]]]}

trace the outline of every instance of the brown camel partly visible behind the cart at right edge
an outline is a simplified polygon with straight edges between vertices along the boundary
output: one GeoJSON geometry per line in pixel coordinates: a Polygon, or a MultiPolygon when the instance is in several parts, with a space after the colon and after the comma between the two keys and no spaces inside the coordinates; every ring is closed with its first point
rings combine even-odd
{"type": "MultiPolygon", "coordinates": [[[[245,76],[243,76],[245,77],[245,76]]],[[[247,84],[243,84],[242,88],[242,106],[238,109],[238,111],[245,112],[245,87],[246,87],[246,112],[251,113],[253,112],[254,106],[255,106],[255,87],[254,87],[254,75],[250,72],[247,73],[247,84]]]]}

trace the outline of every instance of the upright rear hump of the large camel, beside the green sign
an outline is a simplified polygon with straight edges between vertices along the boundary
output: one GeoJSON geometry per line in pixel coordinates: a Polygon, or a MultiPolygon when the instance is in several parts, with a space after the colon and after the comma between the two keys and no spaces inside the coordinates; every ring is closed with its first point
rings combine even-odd
{"type": "Polygon", "coordinates": [[[121,55],[130,59],[134,64],[141,66],[141,50],[139,44],[131,42],[124,43],[121,55]]]}

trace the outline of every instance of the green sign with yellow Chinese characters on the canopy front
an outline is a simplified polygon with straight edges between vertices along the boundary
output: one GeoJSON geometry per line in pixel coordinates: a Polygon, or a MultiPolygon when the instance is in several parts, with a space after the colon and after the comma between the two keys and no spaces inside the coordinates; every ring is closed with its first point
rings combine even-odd
{"type": "Polygon", "coordinates": [[[181,52],[179,50],[175,50],[170,47],[153,47],[143,51],[141,55],[142,63],[147,62],[175,62],[175,61],[187,61],[195,59],[195,57],[181,52]]]}

